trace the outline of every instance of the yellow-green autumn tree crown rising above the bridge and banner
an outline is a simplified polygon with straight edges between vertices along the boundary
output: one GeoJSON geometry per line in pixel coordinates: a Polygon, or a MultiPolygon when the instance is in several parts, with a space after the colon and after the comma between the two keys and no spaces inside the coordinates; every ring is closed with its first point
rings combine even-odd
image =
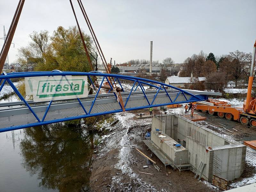
{"type": "MultiPolygon", "coordinates": [[[[83,36],[91,60],[94,60],[92,39],[84,33],[83,36]]],[[[19,50],[18,61],[23,66],[33,65],[33,70],[36,71],[91,71],[79,31],[75,26],[68,29],[60,26],[52,36],[48,31],[34,31],[30,38],[32,41],[28,46],[19,50]]]]}

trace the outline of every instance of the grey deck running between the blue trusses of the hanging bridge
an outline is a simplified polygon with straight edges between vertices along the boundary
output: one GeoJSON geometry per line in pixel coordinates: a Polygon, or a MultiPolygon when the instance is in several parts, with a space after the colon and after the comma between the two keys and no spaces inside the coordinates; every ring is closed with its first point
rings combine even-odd
{"type": "MultiPolygon", "coordinates": [[[[207,95],[207,94],[217,94],[212,92],[201,92],[194,90],[187,90],[188,92],[195,95],[207,95]]],[[[155,94],[155,91],[145,91],[149,102],[152,102],[155,94]]],[[[177,90],[167,90],[172,100],[177,96],[177,90]]],[[[122,98],[125,102],[129,92],[122,92],[122,98]]],[[[95,95],[88,95],[87,98],[82,98],[81,103],[84,108],[89,111],[92,101],[94,100],[95,95]]],[[[186,95],[187,98],[190,98],[190,95],[186,95]]],[[[185,98],[182,94],[178,96],[176,102],[182,102],[185,98]]],[[[164,103],[169,103],[170,100],[166,96],[165,91],[159,91],[154,104],[161,105],[164,103]]],[[[44,113],[48,107],[49,102],[33,102],[32,100],[28,101],[29,105],[36,113],[36,115],[42,119],[44,113]]],[[[143,92],[133,92],[127,102],[126,111],[134,110],[135,108],[147,108],[148,102],[144,97],[143,92]]],[[[107,111],[116,111],[120,110],[120,105],[116,101],[116,97],[113,93],[100,94],[97,97],[97,100],[94,103],[92,108],[93,114],[107,112],[107,111]]],[[[77,100],[63,100],[63,101],[54,101],[52,102],[51,107],[45,117],[45,121],[51,121],[55,119],[68,118],[70,116],[82,116],[85,115],[83,108],[77,100]]],[[[99,114],[100,115],[100,114],[99,114]]],[[[10,103],[0,103],[0,129],[5,127],[18,126],[21,124],[31,124],[36,123],[37,120],[35,116],[31,113],[28,107],[24,104],[23,101],[10,102],[10,103]],[[17,121],[18,119],[18,121],[17,121]]],[[[1,130],[0,130],[1,131],[1,130]]]]}

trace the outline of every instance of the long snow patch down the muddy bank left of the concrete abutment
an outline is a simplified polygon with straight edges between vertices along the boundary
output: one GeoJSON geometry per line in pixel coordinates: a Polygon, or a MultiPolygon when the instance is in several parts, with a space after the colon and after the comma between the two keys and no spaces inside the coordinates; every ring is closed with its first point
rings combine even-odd
{"type": "MultiPolygon", "coordinates": [[[[154,186],[150,185],[150,183],[142,181],[139,175],[132,171],[130,166],[133,160],[131,152],[132,148],[138,148],[136,144],[133,144],[133,146],[131,145],[130,138],[132,137],[134,140],[140,140],[141,135],[132,133],[129,133],[128,135],[129,128],[135,127],[138,124],[151,125],[151,119],[148,119],[147,121],[145,121],[145,119],[134,120],[133,118],[135,115],[129,112],[116,113],[115,116],[119,120],[119,122],[112,128],[112,130],[115,130],[115,132],[109,133],[100,139],[101,142],[105,143],[105,146],[100,148],[98,155],[103,157],[110,150],[119,148],[119,154],[117,156],[118,162],[114,165],[114,167],[121,170],[122,173],[128,175],[130,180],[134,183],[140,184],[140,186],[137,186],[136,188],[137,191],[145,191],[146,188],[147,191],[157,191],[154,186]]],[[[113,176],[111,188],[113,188],[115,183],[117,183],[120,188],[122,188],[123,184],[120,183],[122,178],[122,175],[113,176]]]]}

